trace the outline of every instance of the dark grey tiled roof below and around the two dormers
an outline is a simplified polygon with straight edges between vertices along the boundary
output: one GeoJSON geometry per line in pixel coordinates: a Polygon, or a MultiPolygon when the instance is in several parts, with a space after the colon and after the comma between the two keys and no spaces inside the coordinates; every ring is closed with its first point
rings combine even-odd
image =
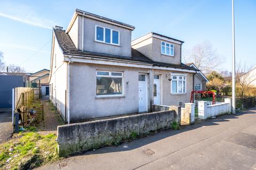
{"type": "Polygon", "coordinates": [[[187,69],[187,70],[196,70],[193,67],[189,67],[183,63],[181,64],[169,64],[169,63],[162,63],[162,62],[155,62],[150,60],[150,58],[146,57],[145,55],[138,52],[138,50],[132,48],[131,57],[125,56],[117,56],[117,55],[109,55],[103,53],[95,53],[95,52],[87,52],[77,50],[76,46],[74,45],[73,41],[69,37],[69,35],[64,30],[56,30],[53,29],[55,33],[55,37],[60,45],[60,48],[63,51],[63,54],[66,55],[74,55],[74,56],[90,56],[94,58],[107,58],[111,60],[124,60],[124,61],[134,61],[134,62],[142,62],[146,64],[152,64],[153,66],[161,66],[161,67],[173,67],[178,69],[187,69]]]}

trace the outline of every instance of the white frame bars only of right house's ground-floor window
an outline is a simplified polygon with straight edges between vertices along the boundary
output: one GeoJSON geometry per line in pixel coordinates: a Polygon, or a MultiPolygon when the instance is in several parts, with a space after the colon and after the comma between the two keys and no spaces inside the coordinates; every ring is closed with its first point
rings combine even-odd
{"type": "Polygon", "coordinates": [[[187,94],[187,74],[171,74],[171,79],[172,79],[171,80],[171,94],[172,95],[187,94]],[[173,80],[173,77],[177,77],[177,79],[173,80]],[[181,81],[182,81],[182,83],[181,83],[181,91],[182,92],[179,92],[179,80],[180,80],[179,78],[180,77],[182,77],[181,78],[181,81]],[[185,79],[183,79],[183,78],[185,78],[185,79]],[[176,86],[177,92],[173,92],[173,90],[172,90],[172,83],[173,83],[173,81],[177,81],[177,86],[176,86]],[[183,89],[183,87],[185,87],[185,89],[183,89]]]}

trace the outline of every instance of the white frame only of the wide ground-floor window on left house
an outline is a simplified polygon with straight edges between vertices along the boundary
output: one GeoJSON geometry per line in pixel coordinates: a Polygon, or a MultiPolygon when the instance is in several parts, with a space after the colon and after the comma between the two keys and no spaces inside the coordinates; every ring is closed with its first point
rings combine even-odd
{"type": "Polygon", "coordinates": [[[103,70],[97,70],[96,71],[96,77],[95,77],[95,92],[96,92],[96,97],[97,98],[106,98],[106,97],[123,97],[124,96],[124,73],[120,72],[120,71],[103,71],[103,70]],[[98,75],[98,72],[108,72],[108,75],[98,75]],[[121,73],[122,75],[111,75],[111,73],[121,73]],[[118,95],[97,95],[97,77],[107,77],[107,78],[122,78],[122,94],[118,94],[118,95]]]}

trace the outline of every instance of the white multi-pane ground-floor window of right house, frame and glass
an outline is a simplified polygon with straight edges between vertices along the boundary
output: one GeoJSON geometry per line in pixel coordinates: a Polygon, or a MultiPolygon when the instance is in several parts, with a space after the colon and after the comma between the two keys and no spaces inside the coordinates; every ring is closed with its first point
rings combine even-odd
{"type": "Polygon", "coordinates": [[[171,76],[171,94],[184,94],[187,91],[187,77],[186,75],[172,75],[171,76]]]}

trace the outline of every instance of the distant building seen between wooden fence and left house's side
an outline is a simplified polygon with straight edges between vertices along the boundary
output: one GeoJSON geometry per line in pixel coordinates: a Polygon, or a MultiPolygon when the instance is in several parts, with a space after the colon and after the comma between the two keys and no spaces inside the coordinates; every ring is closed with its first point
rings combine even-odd
{"type": "Polygon", "coordinates": [[[29,75],[29,87],[38,87],[41,89],[41,96],[49,96],[49,73],[50,70],[43,69],[29,75]]]}

